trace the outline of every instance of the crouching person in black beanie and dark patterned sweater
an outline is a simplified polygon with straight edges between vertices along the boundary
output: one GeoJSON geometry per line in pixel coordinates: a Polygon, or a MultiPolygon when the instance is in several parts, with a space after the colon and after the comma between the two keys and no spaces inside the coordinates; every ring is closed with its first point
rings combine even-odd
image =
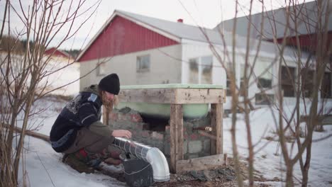
{"type": "Polygon", "coordinates": [[[128,130],[111,130],[101,123],[101,106],[113,107],[120,91],[117,74],[109,74],[79,92],[57,116],[50,131],[52,148],[65,153],[62,162],[79,172],[92,173],[101,162],[121,164],[114,137],[131,138],[128,130]]]}

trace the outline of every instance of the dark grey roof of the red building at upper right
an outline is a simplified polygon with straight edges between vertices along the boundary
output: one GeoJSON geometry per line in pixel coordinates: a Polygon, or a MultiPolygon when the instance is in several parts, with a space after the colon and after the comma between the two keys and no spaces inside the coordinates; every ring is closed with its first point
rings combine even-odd
{"type": "MultiPolygon", "coordinates": [[[[326,6],[329,4],[329,15],[328,15],[328,30],[332,30],[332,0],[322,1],[323,15],[321,16],[321,23],[324,23],[326,16],[326,6]]],[[[297,4],[295,6],[289,6],[289,30],[287,36],[294,35],[308,35],[311,33],[316,33],[316,24],[319,20],[318,18],[318,6],[317,1],[311,1],[304,4],[297,4]],[[296,16],[295,16],[296,15],[296,16]],[[297,18],[295,21],[294,18],[297,18]],[[297,32],[295,30],[295,23],[297,23],[297,32]]],[[[286,8],[279,8],[272,11],[266,11],[264,13],[256,13],[251,15],[251,23],[253,24],[250,29],[250,37],[258,38],[261,33],[261,23],[263,16],[263,30],[262,35],[265,39],[270,40],[273,38],[273,30],[275,30],[275,35],[277,38],[284,37],[284,29],[287,23],[287,10],[286,8]]],[[[236,34],[247,35],[248,33],[248,23],[249,17],[243,16],[236,18],[236,34]]],[[[218,28],[231,31],[233,30],[234,18],[223,21],[214,28],[218,28]]]]}

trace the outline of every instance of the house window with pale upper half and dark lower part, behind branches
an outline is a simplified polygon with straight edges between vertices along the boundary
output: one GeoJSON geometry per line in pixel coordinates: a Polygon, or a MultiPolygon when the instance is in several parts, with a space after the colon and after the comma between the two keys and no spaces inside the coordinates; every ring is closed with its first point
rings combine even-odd
{"type": "Polygon", "coordinates": [[[272,66],[269,62],[258,62],[255,64],[255,75],[258,77],[259,89],[272,88],[272,66]]]}

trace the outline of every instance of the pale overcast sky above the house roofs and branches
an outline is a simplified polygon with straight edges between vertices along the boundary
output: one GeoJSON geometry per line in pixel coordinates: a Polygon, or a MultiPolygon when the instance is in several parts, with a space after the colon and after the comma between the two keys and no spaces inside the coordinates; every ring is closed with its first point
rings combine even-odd
{"type": "MultiPolygon", "coordinates": [[[[88,3],[94,4],[95,1],[91,0],[88,3]]],[[[28,2],[27,0],[23,0],[24,4],[28,4],[28,2]]],[[[89,40],[97,33],[115,9],[168,21],[177,21],[178,18],[182,18],[186,24],[198,24],[206,28],[214,28],[221,21],[231,19],[235,16],[235,2],[231,0],[103,0],[97,8],[96,13],[82,26],[77,35],[72,40],[61,45],[60,48],[67,50],[70,48],[79,49],[87,45],[89,40]]],[[[258,4],[258,0],[254,2],[253,13],[258,13],[261,11],[261,5],[258,4]]],[[[303,0],[299,0],[299,3],[301,2],[303,0]]],[[[1,17],[4,14],[4,3],[4,1],[0,1],[1,17]]],[[[248,14],[250,0],[239,0],[239,5],[238,16],[248,14]]],[[[265,8],[267,10],[280,8],[283,5],[284,0],[265,1],[265,8]]],[[[14,6],[18,6],[18,4],[14,6]]],[[[15,16],[11,18],[11,21],[15,25],[12,26],[12,29],[13,27],[17,27],[16,30],[18,30],[22,26],[21,21],[15,16]]],[[[56,45],[57,41],[64,34],[58,33],[51,45],[56,45]]]]}

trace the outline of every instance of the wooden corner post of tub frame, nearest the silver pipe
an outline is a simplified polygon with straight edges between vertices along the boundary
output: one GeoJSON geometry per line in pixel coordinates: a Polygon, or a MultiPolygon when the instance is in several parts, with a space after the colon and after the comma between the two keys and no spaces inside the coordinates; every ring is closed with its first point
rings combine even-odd
{"type": "Polygon", "coordinates": [[[171,104],[170,110],[170,169],[176,173],[177,161],[183,159],[182,105],[171,104]]]}

